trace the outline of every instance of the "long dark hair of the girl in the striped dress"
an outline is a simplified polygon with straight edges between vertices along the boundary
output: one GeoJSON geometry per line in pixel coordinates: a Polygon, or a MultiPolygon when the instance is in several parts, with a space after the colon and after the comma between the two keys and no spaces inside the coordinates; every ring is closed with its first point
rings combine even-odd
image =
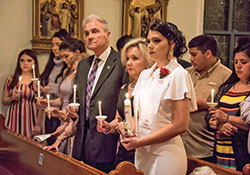
{"type": "Polygon", "coordinates": [[[16,69],[15,69],[15,72],[13,75],[13,79],[12,79],[10,85],[8,86],[8,90],[13,89],[17,85],[19,76],[22,75],[22,69],[20,68],[20,59],[23,55],[28,55],[34,60],[36,76],[39,76],[38,59],[37,59],[35,51],[33,51],[31,49],[24,49],[18,55],[16,69]]]}

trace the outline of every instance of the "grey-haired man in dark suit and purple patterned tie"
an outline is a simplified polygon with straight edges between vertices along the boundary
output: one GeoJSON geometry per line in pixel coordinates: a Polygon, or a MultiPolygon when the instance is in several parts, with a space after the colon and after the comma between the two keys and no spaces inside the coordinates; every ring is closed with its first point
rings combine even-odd
{"type": "Polygon", "coordinates": [[[115,118],[118,94],[124,68],[120,54],[109,46],[110,31],[106,20],[90,15],[83,21],[86,47],[93,56],[79,62],[75,77],[79,122],[73,146],[73,157],[106,173],[114,168],[118,135],[96,130],[98,102],[102,114],[111,122],[115,118]]]}

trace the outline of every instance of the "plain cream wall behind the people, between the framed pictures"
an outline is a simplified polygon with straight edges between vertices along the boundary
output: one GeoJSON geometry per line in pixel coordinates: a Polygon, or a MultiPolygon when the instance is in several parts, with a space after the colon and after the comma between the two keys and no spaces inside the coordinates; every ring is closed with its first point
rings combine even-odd
{"type": "MultiPolygon", "coordinates": [[[[202,33],[204,0],[170,0],[167,20],[175,23],[186,36],[187,42],[202,33]]],[[[111,46],[122,35],[122,0],[84,0],[84,16],[95,13],[104,17],[112,32],[111,46]]],[[[31,48],[32,0],[0,1],[0,96],[5,79],[13,73],[18,53],[31,48]]],[[[188,55],[184,59],[188,60],[188,55]]],[[[39,54],[40,72],[48,60],[48,54],[39,54]]],[[[2,103],[0,113],[5,114],[2,103]]]]}

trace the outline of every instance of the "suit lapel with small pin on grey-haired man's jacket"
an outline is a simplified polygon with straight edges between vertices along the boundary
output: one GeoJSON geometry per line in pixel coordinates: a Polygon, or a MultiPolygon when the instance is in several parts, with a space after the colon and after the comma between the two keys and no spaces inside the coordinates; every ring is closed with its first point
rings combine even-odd
{"type": "Polygon", "coordinates": [[[102,69],[102,72],[100,74],[100,77],[96,83],[95,89],[93,91],[92,97],[97,93],[97,91],[100,89],[100,87],[102,86],[102,84],[104,83],[104,81],[107,79],[107,77],[110,75],[110,73],[112,72],[112,70],[115,67],[116,64],[116,59],[117,57],[114,54],[114,51],[111,50],[107,61],[102,69]]]}

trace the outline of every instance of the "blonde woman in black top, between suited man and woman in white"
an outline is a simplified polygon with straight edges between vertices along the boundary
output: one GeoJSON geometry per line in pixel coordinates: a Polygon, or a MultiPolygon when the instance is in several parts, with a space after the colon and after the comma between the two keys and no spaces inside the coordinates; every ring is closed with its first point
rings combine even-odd
{"type": "MultiPolygon", "coordinates": [[[[98,121],[97,130],[99,132],[103,132],[104,134],[116,134],[116,127],[118,126],[118,123],[125,119],[124,100],[126,98],[126,94],[128,94],[128,98],[133,101],[133,88],[135,87],[141,71],[153,65],[153,61],[150,59],[147,52],[146,41],[142,38],[129,41],[122,49],[121,59],[122,64],[126,67],[126,70],[129,74],[130,82],[124,84],[121,87],[115,119],[110,123],[106,121],[101,123],[98,121]]],[[[115,164],[117,165],[122,161],[130,161],[134,163],[134,150],[127,151],[120,144],[116,155],[115,164]]]]}

